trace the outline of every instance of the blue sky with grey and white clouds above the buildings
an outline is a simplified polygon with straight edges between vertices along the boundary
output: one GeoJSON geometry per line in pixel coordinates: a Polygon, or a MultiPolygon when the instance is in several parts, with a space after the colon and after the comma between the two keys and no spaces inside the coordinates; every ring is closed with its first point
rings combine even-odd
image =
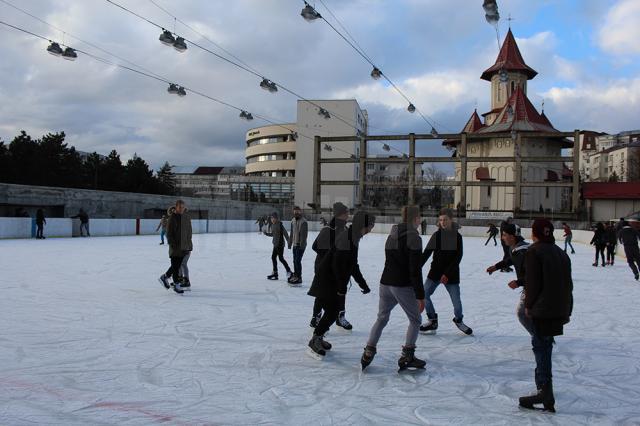
{"type": "MultiPolygon", "coordinates": [[[[150,0],[115,2],[169,29],[174,20],[150,0]]],[[[154,0],[251,67],[309,99],[356,98],[378,132],[428,132],[406,102],[324,22],[305,22],[298,0],[154,0]]],[[[313,2],[311,2],[314,4],[313,2]]],[[[482,0],[324,0],[367,55],[438,130],[459,131],[477,106],[489,109],[480,80],[498,53],[482,0]]],[[[320,13],[332,19],[321,1],[320,13]]],[[[639,0],[498,0],[504,37],[512,30],[539,75],[529,97],[560,130],[640,128],[639,0]]],[[[270,94],[259,79],[190,47],[163,46],[159,30],[105,0],[0,0],[0,20],[107,58],[70,34],[161,75],[282,122],[295,120],[296,98],[270,94]],[[12,3],[68,34],[29,17],[12,3]]],[[[180,23],[179,34],[224,54],[180,23]]],[[[262,125],[238,111],[162,82],[79,55],[48,55],[47,42],[0,25],[0,139],[65,131],[83,151],[123,158],[138,153],[158,167],[244,164],[244,134],[262,125]]],[[[121,60],[110,60],[123,63],[121,60]]]]}

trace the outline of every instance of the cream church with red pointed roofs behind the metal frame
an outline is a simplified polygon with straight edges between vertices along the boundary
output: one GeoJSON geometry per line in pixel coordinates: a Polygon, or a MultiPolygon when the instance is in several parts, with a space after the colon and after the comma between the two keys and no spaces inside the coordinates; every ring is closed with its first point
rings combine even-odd
{"type": "MultiPolygon", "coordinates": [[[[529,67],[518,48],[511,30],[507,33],[493,66],[481,79],[491,83],[491,110],[483,114],[484,122],[473,112],[462,132],[486,135],[486,139],[467,142],[467,180],[513,182],[515,163],[473,162],[473,157],[509,157],[515,155],[515,138],[521,135],[521,158],[560,156],[563,148],[573,143],[562,137],[530,138],[529,132],[559,133],[544,114],[539,113],[527,97],[527,82],[538,73],[529,67]],[[511,137],[498,137],[510,134],[511,137]]],[[[446,140],[445,145],[458,147],[459,140],[446,140]]],[[[460,180],[460,164],[456,165],[456,180],[460,180]]],[[[472,186],[467,188],[467,211],[568,210],[570,191],[560,187],[531,187],[526,182],[556,182],[570,176],[562,163],[522,162],[522,193],[516,205],[514,188],[508,186],[472,186]]],[[[459,203],[460,188],[455,202],[459,203]]]]}

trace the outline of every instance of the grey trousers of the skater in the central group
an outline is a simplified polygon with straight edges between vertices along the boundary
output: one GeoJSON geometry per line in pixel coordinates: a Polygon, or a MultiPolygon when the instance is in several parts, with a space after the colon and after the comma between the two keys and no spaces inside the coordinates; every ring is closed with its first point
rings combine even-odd
{"type": "Polygon", "coordinates": [[[380,301],[378,303],[378,319],[371,327],[369,333],[369,340],[367,345],[377,346],[378,340],[382,330],[389,322],[389,315],[396,305],[400,304],[400,307],[407,315],[409,319],[409,327],[407,328],[407,336],[405,339],[405,346],[415,347],[416,340],[418,340],[418,332],[420,331],[420,324],[422,323],[422,317],[418,310],[418,301],[416,300],[416,294],[413,291],[413,287],[393,287],[389,285],[380,284],[380,301]]]}

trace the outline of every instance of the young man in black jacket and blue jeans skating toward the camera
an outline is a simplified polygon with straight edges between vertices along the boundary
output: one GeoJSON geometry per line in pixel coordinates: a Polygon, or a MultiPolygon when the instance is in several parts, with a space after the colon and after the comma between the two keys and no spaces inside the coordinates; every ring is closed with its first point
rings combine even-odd
{"type": "Polygon", "coordinates": [[[424,282],[427,322],[420,326],[420,331],[424,333],[435,333],[438,329],[438,314],[431,301],[431,295],[441,283],[447,289],[453,304],[454,324],[467,335],[473,333],[473,330],[462,322],[462,301],[460,300],[462,235],[454,228],[452,219],[453,213],[450,209],[442,209],[440,211],[438,216],[439,229],[431,235],[422,254],[422,262],[424,264],[433,253],[431,269],[424,282]]]}

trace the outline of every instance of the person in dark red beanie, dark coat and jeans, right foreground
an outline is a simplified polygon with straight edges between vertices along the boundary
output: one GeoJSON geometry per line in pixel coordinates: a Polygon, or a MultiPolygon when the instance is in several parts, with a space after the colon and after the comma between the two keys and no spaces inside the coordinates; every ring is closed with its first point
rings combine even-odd
{"type": "Polygon", "coordinates": [[[525,315],[533,324],[531,344],[536,359],[536,393],[520,398],[520,406],[534,409],[542,404],[555,412],[551,374],[554,336],[563,334],[573,310],[571,260],[555,244],[553,224],[537,219],[531,229],[533,244],[525,256],[525,315]]]}

